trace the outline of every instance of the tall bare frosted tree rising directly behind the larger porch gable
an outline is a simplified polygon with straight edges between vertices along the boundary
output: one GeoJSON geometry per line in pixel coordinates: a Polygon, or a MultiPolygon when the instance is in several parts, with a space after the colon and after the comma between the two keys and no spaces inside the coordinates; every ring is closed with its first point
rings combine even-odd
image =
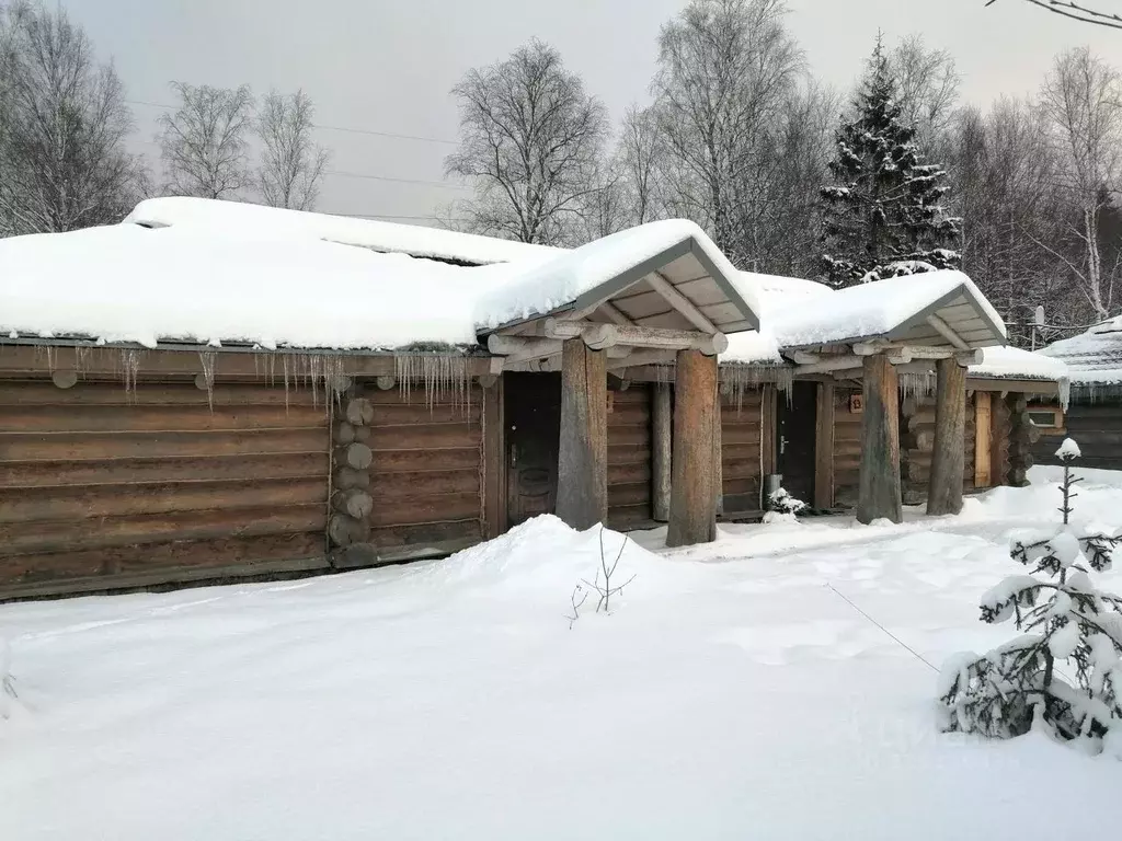
{"type": "Polygon", "coordinates": [[[663,26],[652,82],[669,202],[734,262],[756,258],[774,137],[803,70],[782,0],[693,0],[663,26]]]}

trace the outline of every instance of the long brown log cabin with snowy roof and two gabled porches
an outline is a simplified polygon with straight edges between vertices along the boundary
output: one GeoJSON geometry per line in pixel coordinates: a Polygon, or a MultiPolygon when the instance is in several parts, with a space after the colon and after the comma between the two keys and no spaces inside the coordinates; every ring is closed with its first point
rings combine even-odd
{"type": "Polygon", "coordinates": [[[573,250],[194,198],[0,242],[0,599],[440,557],[555,512],[710,540],[1024,480],[958,272],[835,292],[684,221],[573,250]]]}

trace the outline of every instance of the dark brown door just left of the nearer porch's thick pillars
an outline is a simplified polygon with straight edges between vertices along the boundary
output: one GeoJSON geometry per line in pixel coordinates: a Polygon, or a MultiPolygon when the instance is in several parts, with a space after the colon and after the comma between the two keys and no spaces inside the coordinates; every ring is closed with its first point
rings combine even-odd
{"type": "Polygon", "coordinates": [[[506,492],[511,526],[552,514],[558,495],[561,375],[507,373],[506,492]]]}

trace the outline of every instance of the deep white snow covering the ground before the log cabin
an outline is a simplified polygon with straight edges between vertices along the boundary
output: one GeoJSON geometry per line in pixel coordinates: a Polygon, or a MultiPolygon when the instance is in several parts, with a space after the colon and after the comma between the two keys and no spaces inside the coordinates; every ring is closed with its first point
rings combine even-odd
{"type": "MultiPolygon", "coordinates": [[[[1122,525],[1122,474],[1088,473],[1078,514],[1122,525]]],[[[597,535],[552,518],[442,562],[2,606],[0,839],[1110,837],[1122,763],[935,724],[935,667],[1013,632],[977,600],[1054,478],[900,526],[640,534],[571,630],[597,535]]]]}

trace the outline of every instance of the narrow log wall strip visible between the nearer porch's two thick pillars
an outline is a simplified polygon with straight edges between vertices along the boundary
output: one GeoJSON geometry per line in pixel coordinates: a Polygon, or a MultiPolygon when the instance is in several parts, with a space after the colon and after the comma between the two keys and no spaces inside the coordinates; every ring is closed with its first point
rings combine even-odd
{"type": "Polygon", "coordinates": [[[608,391],[608,525],[634,528],[653,520],[652,449],[655,383],[608,391]]]}

